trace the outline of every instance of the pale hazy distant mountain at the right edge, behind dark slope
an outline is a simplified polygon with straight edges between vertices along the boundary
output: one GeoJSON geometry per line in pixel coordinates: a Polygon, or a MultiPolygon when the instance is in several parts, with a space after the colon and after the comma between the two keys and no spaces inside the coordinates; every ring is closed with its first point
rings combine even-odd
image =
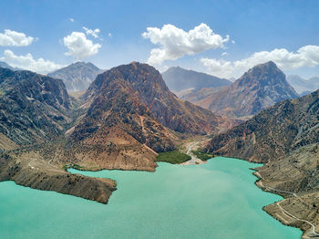
{"type": "Polygon", "coordinates": [[[304,79],[297,75],[287,77],[287,81],[301,96],[307,92],[314,92],[319,88],[319,78],[304,79]]]}

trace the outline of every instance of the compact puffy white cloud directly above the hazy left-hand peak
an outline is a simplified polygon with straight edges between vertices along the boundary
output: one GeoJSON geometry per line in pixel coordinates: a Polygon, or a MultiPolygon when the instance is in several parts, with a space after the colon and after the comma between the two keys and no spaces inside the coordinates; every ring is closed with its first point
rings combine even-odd
{"type": "Polygon", "coordinates": [[[70,35],[65,36],[63,43],[68,49],[66,55],[77,59],[96,55],[98,49],[102,47],[100,44],[93,44],[82,32],[72,32],[70,35]]]}

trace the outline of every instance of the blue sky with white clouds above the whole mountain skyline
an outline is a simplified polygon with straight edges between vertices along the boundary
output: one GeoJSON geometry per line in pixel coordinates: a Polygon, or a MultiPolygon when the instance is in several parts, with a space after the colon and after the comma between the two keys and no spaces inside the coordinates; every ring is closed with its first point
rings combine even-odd
{"type": "Polygon", "coordinates": [[[239,78],[273,60],[319,76],[319,1],[1,0],[0,61],[47,73],[132,61],[239,78]]]}

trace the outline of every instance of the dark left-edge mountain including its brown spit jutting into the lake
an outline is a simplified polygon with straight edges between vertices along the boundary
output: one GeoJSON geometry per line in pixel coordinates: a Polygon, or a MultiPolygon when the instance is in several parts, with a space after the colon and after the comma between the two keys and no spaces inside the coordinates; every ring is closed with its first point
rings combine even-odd
{"type": "Polygon", "coordinates": [[[108,203],[116,182],[69,173],[46,157],[46,143],[58,140],[71,120],[62,80],[0,68],[0,182],[108,203]]]}

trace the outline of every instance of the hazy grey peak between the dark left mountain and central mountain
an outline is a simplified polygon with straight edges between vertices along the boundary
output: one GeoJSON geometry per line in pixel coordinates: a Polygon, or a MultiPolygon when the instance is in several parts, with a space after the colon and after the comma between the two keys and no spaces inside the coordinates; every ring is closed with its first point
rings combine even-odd
{"type": "Polygon", "coordinates": [[[86,90],[101,72],[101,69],[90,62],[76,62],[66,68],[60,68],[49,73],[47,76],[62,79],[68,91],[82,91],[86,90]]]}

